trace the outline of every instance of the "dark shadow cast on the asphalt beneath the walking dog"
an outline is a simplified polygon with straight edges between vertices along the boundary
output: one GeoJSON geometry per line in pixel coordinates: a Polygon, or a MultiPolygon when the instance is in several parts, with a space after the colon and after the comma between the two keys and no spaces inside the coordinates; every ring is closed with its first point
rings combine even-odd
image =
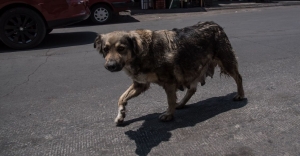
{"type": "Polygon", "coordinates": [[[124,122],[124,126],[133,122],[144,120],[144,123],[136,131],[129,130],[125,134],[136,143],[135,153],[139,156],[148,155],[152,148],[163,141],[169,141],[173,131],[178,128],[192,127],[197,123],[206,121],[218,114],[238,109],[247,105],[248,100],[232,101],[234,93],[226,96],[209,98],[194,104],[187,105],[184,109],[177,110],[175,121],[158,121],[159,113],[153,113],[140,118],[124,122]]]}

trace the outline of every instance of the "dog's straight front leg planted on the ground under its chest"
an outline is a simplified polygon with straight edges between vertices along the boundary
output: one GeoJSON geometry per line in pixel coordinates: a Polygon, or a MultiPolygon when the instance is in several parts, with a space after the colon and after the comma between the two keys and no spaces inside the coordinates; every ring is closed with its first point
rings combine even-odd
{"type": "Polygon", "coordinates": [[[168,109],[165,113],[159,116],[161,121],[170,121],[174,118],[174,112],[176,108],[176,85],[175,84],[167,84],[164,85],[165,92],[168,98],[168,109]]]}

